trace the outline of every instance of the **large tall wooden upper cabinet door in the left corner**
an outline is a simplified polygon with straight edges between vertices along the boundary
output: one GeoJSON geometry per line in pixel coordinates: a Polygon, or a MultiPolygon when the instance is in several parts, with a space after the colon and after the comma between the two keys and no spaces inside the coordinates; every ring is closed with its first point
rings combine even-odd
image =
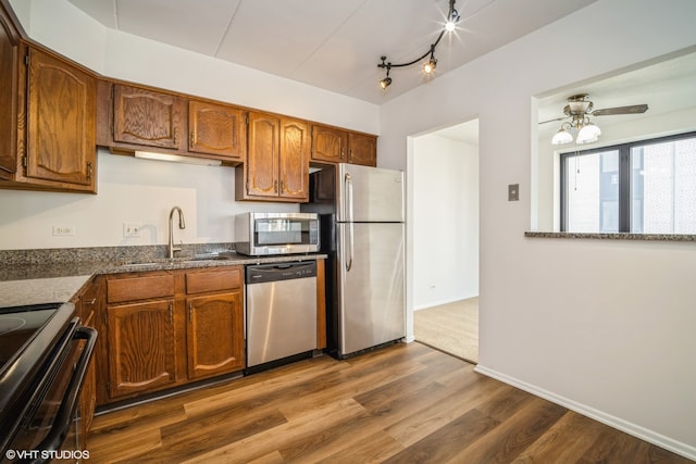
{"type": "Polygon", "coordinates": [[[96,80],[29,49],[26,176],[87,186],[96,178],[96,80]]]}

